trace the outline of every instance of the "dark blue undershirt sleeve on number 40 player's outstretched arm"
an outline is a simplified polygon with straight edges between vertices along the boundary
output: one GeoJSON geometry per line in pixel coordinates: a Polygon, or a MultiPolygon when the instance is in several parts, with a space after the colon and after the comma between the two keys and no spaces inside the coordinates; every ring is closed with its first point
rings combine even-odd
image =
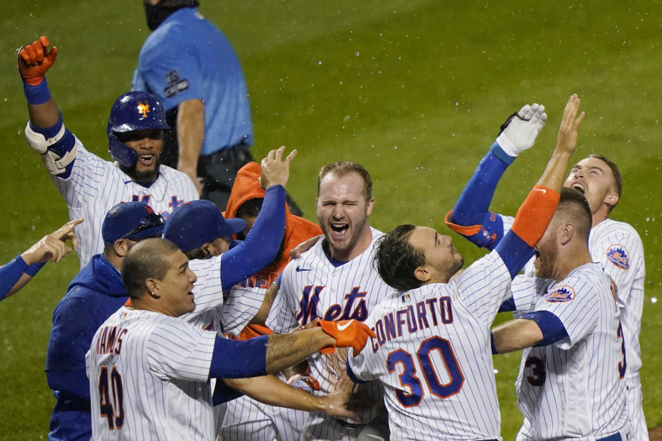
{"type": "Polygon", "coordinates": [[[246,378],[266,374],[269,336],[250,340],[217,337],[209,378],[246,378]]]}

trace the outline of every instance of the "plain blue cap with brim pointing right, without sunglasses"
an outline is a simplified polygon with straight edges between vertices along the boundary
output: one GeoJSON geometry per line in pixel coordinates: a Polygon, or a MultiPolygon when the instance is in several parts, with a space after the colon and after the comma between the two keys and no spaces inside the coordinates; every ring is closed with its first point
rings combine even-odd
{"type": "Polygon", "coordinates": [[[245,227],[245,220],[225,219],[214,203],[200,199],[187,202],[172,211],[165,222],[163,238],[187,252],[205,243],[212,243],[215,238],[237,234],[245,227]]]}

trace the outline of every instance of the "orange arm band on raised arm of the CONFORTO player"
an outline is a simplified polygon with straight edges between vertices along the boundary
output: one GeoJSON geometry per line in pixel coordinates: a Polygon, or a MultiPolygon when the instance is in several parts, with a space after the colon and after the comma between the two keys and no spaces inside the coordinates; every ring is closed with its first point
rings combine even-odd
{"type": "Polygon", "coordinates": [[[560,198],[561,194],[554,190],[535,185],[519,207],[512,231],[527,245],[535,247],[550,225],[560,198]]]}

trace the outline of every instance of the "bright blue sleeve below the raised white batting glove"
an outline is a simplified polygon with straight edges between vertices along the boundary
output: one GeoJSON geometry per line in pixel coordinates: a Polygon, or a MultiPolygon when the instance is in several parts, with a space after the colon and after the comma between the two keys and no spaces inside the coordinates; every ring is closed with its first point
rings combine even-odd
{"type": "Polygon", "coordinates": [[[470,233],[459,231],[479,247],[494,249],[503,237],[503,221],[499,214],[489,212],[496,184],[514,157],[505,154],[496,142],[479,163],[473,176],[464,187],[450,215],[450,222],[464,227],[476,227],[470,233]]]}

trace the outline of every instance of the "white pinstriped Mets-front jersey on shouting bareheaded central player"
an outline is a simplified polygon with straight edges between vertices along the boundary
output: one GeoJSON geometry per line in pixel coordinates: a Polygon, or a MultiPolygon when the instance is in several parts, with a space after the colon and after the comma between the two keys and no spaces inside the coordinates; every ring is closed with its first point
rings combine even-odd
{"type": "MultiPolygon", "coordinates": [[[[266,325],[276,334],[285,334],[314,318],[354,318],[364,322],[368,312],[390,291],[373,263],[373,245],[383,234],[374,228],[371,231],[370,247],[339,267],[334,267],[326,256],[324,240],[292,260],[283,270],[281,287],[266,325]]],[[[328,355],[317,352],[308,358],[310,376],[319,382],[321,389],[318,395],[334,391],[338,378],[345,373],[346,360],[345,349],[336,349],[328,355]]],[[[364,384],[360,389],[368,400],[377,403],[359,412],[362,421],[367,423],[381,408],[382,391],[377,383],[364,384]]]]}

